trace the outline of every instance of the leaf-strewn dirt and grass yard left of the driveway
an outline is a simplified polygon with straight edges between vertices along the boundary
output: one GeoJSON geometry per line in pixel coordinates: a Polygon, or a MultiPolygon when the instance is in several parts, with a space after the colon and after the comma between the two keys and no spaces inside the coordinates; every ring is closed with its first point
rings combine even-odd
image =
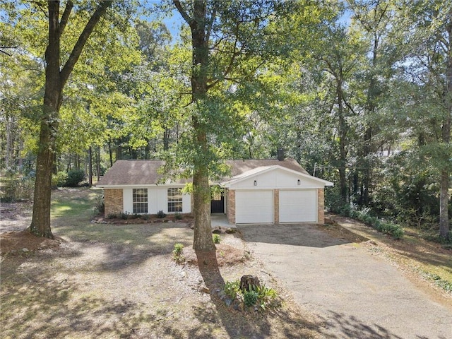
{"type": "MultiPolygon", "coordinates": [[[[257,275],[277,290],[282,308],[227,307],[206,272],[172,260],[179,242],[195,261],[190,227],[91,223],[96,196],[54,192],[55,240],[1,235],[0,338],[320,338],[322,322],[292,301],[239,234],[220,234],[220,278],[257,275]]],[[[28,227],[26,207],[3,204],[1,232],[28,227]]]]}

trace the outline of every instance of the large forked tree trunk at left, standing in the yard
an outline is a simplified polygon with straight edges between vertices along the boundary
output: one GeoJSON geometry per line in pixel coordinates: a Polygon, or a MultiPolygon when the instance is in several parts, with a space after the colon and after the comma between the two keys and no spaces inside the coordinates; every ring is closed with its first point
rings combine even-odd
{"type": "Polygon", "coordinates": [[[71,18],[73,1],[66,1],[64,11],[60,11],[61,1],[47,1],[48,44],[45,51],[44,103],[40,119],[40,140],[37,152],[35,198],[32,222],[29,230],[38,237],[53,238],[50,227],[50,198],[52,186],[52,167],[54,162],[55,141],[58,131],[59,109],[63,100],[64,85],[69,79],[88,38],[95,25],[105,15],[112,1],[102,0],[93,9],[85,28],[78,36],[71,54],[61,64],[61,39],[71,18]]]}

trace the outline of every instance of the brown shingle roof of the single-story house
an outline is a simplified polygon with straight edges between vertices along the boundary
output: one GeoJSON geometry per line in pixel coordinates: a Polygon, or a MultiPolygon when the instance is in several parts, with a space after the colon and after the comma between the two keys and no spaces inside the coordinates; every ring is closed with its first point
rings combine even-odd
{"type": "MultiPolygon", "coordinates": [[[[227,160],[227,165],[231,166],[231,177],[223,178],[225,180],[232,179],[244,172],[248,172],[258,167],[271,167],[280,165],[303,174],[309,174],[302,166],[293,159],[286,158],[283,161],[278,159],[263,160],[227,160]]],[[[159,182],[162,174],[159,169],[165,165],[163,160],[117,160],[113,166],[108,169],[107,173],[100,178],[96,186],[129,186],[129,185],[153,185],[159,182]]],[[[172,184],[186,184],[190,180],[182,179],[172,184]]]]}

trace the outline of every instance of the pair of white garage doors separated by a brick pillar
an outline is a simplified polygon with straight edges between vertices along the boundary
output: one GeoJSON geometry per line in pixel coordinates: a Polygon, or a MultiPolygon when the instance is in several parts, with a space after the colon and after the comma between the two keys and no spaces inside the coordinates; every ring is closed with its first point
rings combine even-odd
{"type": "MultiPolygon", "coordinates": [[[[279,222],[316,222],[317,191],[280,190],[279,222]]],[[[259,224],[274,222],[273,190],[235,191],[235,222],[259,224]]]]}

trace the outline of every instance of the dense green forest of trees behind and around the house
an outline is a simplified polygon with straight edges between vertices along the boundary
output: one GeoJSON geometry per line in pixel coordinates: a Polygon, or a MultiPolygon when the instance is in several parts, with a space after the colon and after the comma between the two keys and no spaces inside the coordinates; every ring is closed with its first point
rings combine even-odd
{"type": "MultiPolygon", "coordinates": [[[[97,2],[73,1],[61,59],[97,2]]],[[[206,1],[210,78],[196,107],[192,37],[177,4],[119,1],[100,19],[53,122],[52,186],[94,184],[118,159],[165,159],[190,174],[203,154],[213,175],[222,160],[284,148],[335,183],[332,212],[450,237],[451,1],[206,1]],[[194,117],[208,150],[193,141],[194,117]]],[[[0,0],[0,18],[6,201],[32,197],[47,2],[0,0]]]]}

